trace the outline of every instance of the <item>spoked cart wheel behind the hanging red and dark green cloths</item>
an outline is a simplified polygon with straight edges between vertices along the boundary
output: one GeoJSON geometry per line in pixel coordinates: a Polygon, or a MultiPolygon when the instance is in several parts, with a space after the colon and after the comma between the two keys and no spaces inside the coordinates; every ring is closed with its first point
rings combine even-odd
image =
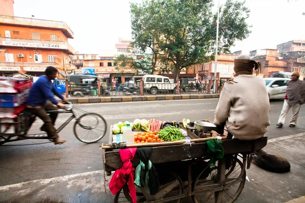
{"type": "MultiPolygon", "coordinates": [[[[182,181],[175,173],[164,172],[160,175],[160,190],[155,195],[146,193],[144,188],[136,186],[137,202],[149,202],[153,200],[164,199],[164,202],[180,203],[181,198],[174,200],[166,200],[166,198],[178,196],[183,193],[182,181]],[[145,194],[144,194],[145,193],[145,194]]],[[[117,202],[132,202],[129,195],[128,187],[125,185],[121,191],[115,194],[114,203],[117,202]]]]}

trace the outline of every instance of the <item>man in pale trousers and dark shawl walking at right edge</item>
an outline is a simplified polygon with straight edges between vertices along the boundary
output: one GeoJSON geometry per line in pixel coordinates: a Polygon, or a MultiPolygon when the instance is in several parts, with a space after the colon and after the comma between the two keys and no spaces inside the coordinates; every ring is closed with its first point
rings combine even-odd
{"type": "Polygon", "coordinates": [[[290,119],[289,127],[295,127],[301,105],[305,102],[305,82],[299,80],[300,74],[293,72],[291,80],[287,83],[287,94],[283,109],[279,118],[277,126],[282,127],[285,123],[286,115],[290,108],[292,108],[292,117],[290,119]]]}

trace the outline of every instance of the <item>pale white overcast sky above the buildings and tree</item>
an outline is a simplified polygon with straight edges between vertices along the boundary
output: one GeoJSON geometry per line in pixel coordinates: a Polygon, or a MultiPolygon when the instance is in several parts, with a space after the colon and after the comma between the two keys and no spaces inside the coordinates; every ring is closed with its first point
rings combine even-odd
{"type": "MultiPolygon", "coordinates": [[[[217,5],[218,0],[214,1],[217,5]]],[[[114,49],[118,38],[131,39],[130,2],[142,0],[15,0],[14,11],[18,17],[34,15],[66,22],[74,32],[74,39],[69,39],[74,50],[97,54],[114,49]]],[[[237,41],[231,52],[248,54],[256,49],[276,49],[291,40],[305,40],[305,0],[246,0],[246,6],[251,10],[248,23],[252,33],[246,40],[237,41]]]]}

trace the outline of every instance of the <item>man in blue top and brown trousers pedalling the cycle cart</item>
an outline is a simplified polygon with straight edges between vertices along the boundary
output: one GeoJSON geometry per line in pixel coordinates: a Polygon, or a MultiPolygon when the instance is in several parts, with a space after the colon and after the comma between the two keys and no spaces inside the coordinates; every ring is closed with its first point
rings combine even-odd
{"type": "Polygon", "coordinates": [[[58,108],[66,109],[66,106],[58,102],[53,96],[53,94],[55,94],[62,99],[64,103],[67,102],[66,98],[53,87],[51,80],[54,80],[56,77],[57,69],[53,66],[48,66],[45,70],[45,75],[40,76],[33,84],[31,90],[29,90],[26,102],[27,110],[43,120],[44,124],[40,129],[47,132],[48,137],[54,141],[55,145],[67,142],[67,140],[58,138],[58,134],[54,127],[57,114],[50,114],[50,116],[48,116],[46,112],[56,111],[58,108]],[[51,103],[47,100],[51,101],[51,103]]]}

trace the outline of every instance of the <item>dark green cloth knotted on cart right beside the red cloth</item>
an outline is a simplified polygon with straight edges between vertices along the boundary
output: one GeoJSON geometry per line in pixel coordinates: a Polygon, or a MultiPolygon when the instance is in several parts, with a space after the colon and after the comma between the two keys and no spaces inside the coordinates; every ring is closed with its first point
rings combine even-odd
{"type": "Polygon", "coordinates": [[[141,147],[137,149],[140,164],[135,172],[135,184],[139,187],[147,186],[149,194],[156,194],[160,189],[159,175],[155,166],[149,160],[153,147],[141,147]]]}

